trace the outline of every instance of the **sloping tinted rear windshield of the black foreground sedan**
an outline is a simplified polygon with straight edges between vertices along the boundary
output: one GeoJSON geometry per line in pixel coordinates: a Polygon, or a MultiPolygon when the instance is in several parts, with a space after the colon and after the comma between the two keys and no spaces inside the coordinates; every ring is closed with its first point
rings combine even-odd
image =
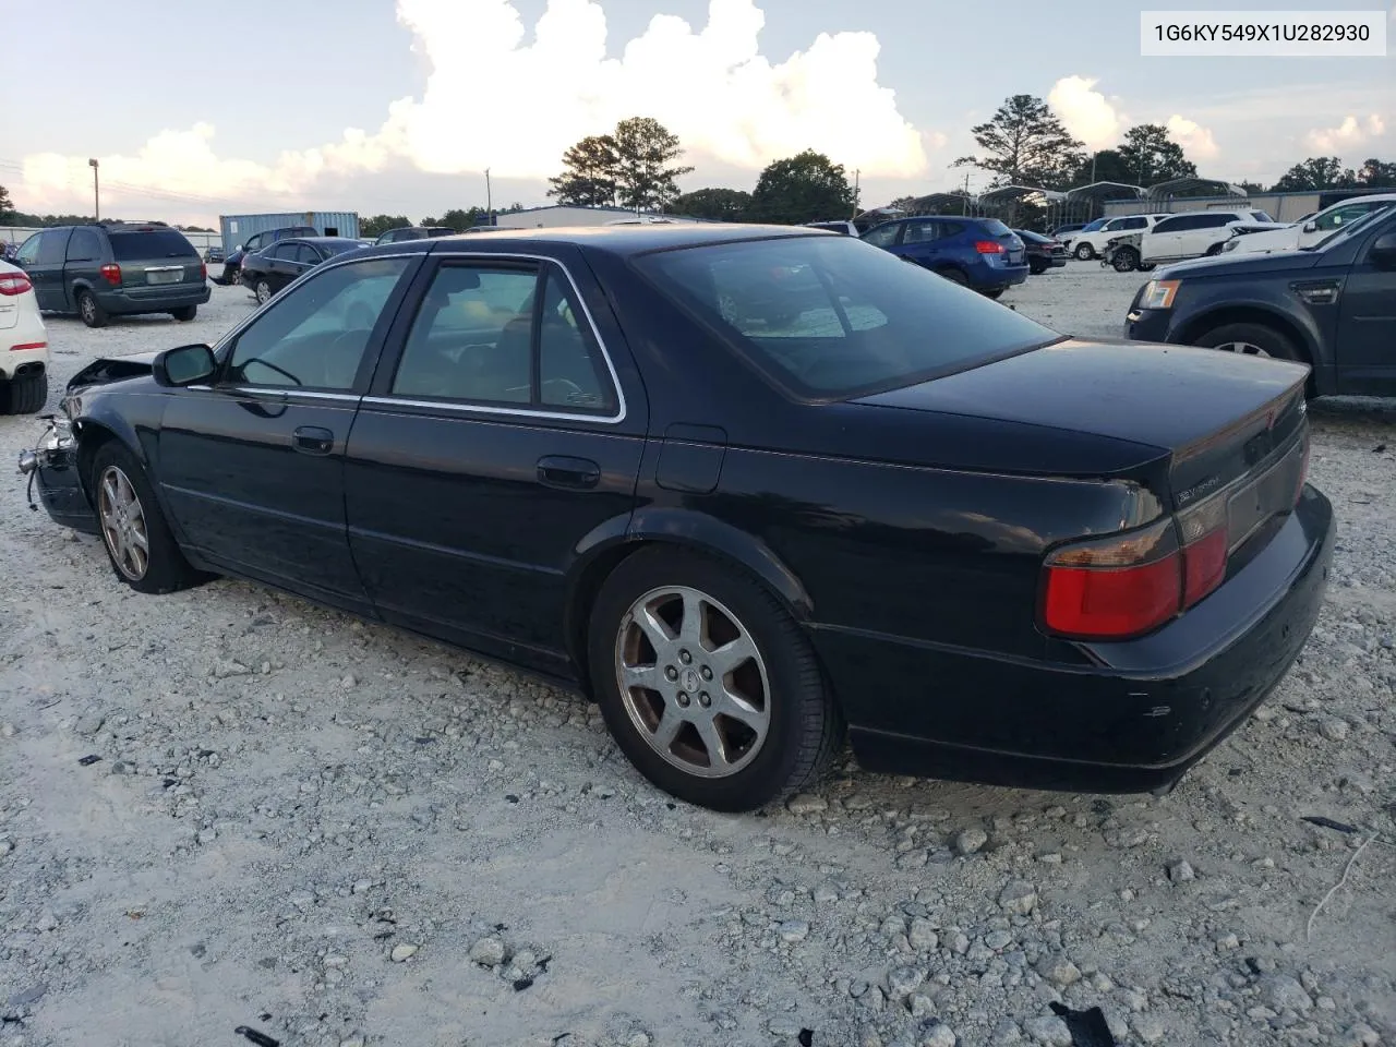
{"type": "Polygon", "coordinates": [[[639,255],[635,265],[803,399],[910,385],[1058,338],[849,237],[684,247],[639,255]]]}

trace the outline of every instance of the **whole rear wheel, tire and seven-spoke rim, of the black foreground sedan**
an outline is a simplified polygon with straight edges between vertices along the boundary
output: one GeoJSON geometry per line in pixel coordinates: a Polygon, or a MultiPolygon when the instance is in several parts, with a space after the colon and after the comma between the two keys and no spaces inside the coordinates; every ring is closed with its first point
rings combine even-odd
{"type": "Polygon", "coordinates": [[[706,556],[651,547],[624,560],[592,609],[588,658],[620,748],[692,804],[758,808],[815,780],[843,740],[794,618],[706,556]]]}

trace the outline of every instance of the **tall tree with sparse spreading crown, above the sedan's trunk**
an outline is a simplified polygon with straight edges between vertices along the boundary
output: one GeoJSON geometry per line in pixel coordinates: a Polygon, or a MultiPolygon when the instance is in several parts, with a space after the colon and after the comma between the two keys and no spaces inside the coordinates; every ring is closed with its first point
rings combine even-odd
{"type": "Polygon", "coordinates": [[[970,128],[976,156],[960,156],[956,166],[972,165],[993,172],[1009,186],[1058,188],[1081,170],[1083,147],[1046,102],[1033,95],[1011,95],[993,117],[970,128]]]}

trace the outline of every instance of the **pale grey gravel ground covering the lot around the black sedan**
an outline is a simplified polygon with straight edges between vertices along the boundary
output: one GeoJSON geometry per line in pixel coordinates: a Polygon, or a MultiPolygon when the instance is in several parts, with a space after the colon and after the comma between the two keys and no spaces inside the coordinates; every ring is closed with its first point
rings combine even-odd
{"type": "MultiPolygon", "coordinates": [[[[1004,302],[1115,335],[1138,281],[1072,262],[1004,302]]],[[[250,307],[52,318],[56,377],[250,307]]],[[[581,699],[448,648],[242,582],[135,595],[15,477],[0,1047],[1067,1047],[1054,1005],[1128,1044],[1396,1044],[1393,417],[1315,406],[1328,607],[1173,794],[846,762],[754,817],[670,801],[581,699]]],[[[0,419],[6,454],[38,431],[0,419]]]]}

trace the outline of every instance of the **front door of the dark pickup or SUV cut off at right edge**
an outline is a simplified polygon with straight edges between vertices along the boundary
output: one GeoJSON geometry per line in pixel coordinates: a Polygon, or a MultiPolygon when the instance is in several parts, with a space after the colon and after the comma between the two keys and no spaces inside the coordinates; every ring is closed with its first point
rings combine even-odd
{"type": "MultiPolygon", "coordinates": [[[[1396,219],[1376,219],[1343,283],[1337,314],[1342,392],[1396,395],[1396,219]],[[1383,250],[1386,248],[1386,250],[1383,250]]],[[[1361,233],[1354,233],[1361,236],[1361,233]]]]}

